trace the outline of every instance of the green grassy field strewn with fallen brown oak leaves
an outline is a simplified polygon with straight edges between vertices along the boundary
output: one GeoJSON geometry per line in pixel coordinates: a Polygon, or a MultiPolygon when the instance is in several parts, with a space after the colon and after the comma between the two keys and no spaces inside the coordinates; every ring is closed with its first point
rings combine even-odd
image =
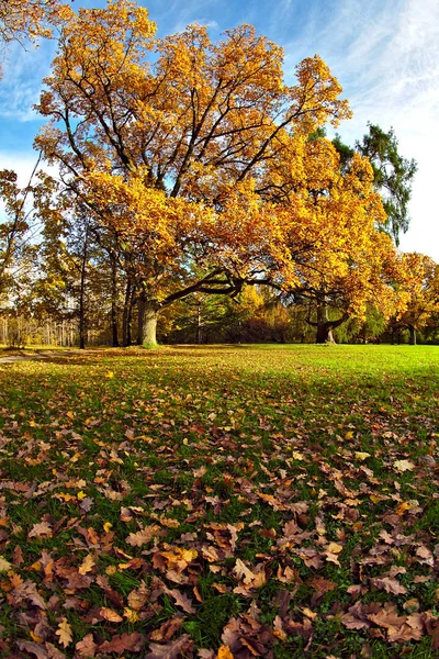
{"type": "Polygon", "coordinates": [[[0,657],[437,656],[438,376],[423,346],[0,364],[0,657]]]}

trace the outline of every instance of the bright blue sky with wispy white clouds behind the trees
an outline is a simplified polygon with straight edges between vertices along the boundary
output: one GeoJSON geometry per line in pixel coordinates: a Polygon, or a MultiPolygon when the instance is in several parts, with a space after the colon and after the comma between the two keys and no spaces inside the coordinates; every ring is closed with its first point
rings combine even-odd
{"type": "MultiPolygon", "coordinates": [[[[75,0],[74,7],[103,7],[101,0],[75,0]]],[[[412,224],[402,248],[439,261],[439,2],[438,0],[149,0],[158,34],[188,23],[209,26],[215,40],[224,30],[251,23],[284,47],[285,77],[318,53],[349,99],[353,119],[339,127],[345,142],[367,132],[367,122],[394,127],[399,152],[418,161],[410,202],[412,224]]],[[[27,52],[13,45],[3,63],[0,94],[0,168],[22,177],[36,155],[33,137],[41,125],[32,111],[41,80],[48,74],[55,44],[27,52]]]]}

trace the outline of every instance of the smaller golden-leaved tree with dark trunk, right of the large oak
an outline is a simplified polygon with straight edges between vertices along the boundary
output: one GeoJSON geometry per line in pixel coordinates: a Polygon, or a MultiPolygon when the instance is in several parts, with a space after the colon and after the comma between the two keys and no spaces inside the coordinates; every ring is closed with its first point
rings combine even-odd
{"type": "Polygon", "coordinates": [[[291,201],[296,220],[285,237],[294,260],[292,299],[307,304],[317,343],[349,317],[362,319],[369,304],[390,316],[406,293],[394,286],[408,273],[390,237],[381,197],[373,189],[370,163],[353,154],[340,165],[324,138],[305,143],[304,186],[291,201]]]}

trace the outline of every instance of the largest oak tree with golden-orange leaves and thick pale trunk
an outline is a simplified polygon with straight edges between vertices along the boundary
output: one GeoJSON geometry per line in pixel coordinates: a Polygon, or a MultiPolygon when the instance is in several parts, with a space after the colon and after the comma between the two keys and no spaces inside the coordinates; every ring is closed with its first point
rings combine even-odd
{"type": "Polygon", "coordinates": [[[63,25],[36,144],[102,239],[111,233],[144,343],[172,301],[235,292],[282,261],[278,215],[257,199],[267,168],[292,135],[349,116],[318,56],[297,66],[294,86],[282,64],[250,25],[217,44],[200,25],[157,40],[147,11],[126,0],[71,11],[63,25]]]}

